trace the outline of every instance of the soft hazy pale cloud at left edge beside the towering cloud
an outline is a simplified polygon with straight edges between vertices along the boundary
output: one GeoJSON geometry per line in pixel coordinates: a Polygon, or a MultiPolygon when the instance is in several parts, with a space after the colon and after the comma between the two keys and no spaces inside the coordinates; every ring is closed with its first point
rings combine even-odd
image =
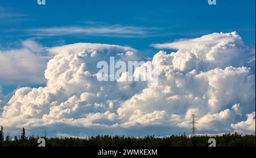
{"type": "Polygon", "coordinates": [[[15,49],[0,48],[0,83],[46,83],[44,70],[51,55],[34,40],[24,40],[15,49]]]}

